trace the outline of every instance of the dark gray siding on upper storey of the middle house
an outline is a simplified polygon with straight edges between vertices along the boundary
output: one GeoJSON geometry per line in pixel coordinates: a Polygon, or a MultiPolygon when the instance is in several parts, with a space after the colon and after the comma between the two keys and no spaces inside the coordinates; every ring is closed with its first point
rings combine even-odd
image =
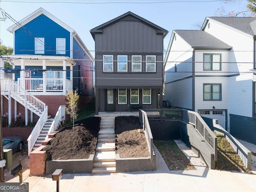
{"type": "Polygon", "coordinates": [[[163,84],[163,34],[156,34],[156,29],[143,22],[119,20],[102,29],[102,34],[95,34],[96,48],[96,87],[98,86],[152,86],[162,88],[163,84]],[[142,72],[131,72],[132,64],[128,62],[128,72],[103,72],[103,55],[142,56],[142,72]],[[145,72],[146,55],[156,56],[156,72],[145,72]]]}

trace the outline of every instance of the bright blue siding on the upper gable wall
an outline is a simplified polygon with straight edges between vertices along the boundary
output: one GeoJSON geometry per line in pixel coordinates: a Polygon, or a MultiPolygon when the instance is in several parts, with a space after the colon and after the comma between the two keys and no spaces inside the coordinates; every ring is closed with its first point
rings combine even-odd
{"type": "MultiPolygon", "coordinates": [[[[41,14],[24,25],[35,37],[44,38],[44,54],[70,57],[70,32],[41,14]],[[66,54],[56,54],[56,38],[66,38],[66,54]]],[[[14,34],[15,54],[35,54],[35,37],[24,28],[14,34]]]]}

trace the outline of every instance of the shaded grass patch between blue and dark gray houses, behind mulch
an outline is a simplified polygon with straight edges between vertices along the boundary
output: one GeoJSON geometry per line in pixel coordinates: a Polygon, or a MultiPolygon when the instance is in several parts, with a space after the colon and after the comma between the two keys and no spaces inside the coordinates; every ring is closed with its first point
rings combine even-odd
{"type": "MultiPolygon", "coordinates": [[[[95,115],[95,99],[93,98],[90,102],[88,102],[86,107],[80,108],[80,110],[78,110],[78,117],[76,121],[83,120],[88,117],[93,117],[94,115],[95,115]]],[[[71,124],[72,124],[72,121],[68,120],[62,127],[68,127],[71,124]]]]}

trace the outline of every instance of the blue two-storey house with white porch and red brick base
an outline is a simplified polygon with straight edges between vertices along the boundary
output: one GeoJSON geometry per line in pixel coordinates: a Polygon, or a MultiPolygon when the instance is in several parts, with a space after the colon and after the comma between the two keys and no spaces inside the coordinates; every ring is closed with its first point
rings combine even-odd
{"type": "MultiPolygon", "coordinates": [[[[68,90],[78,89],[81,100],[92,98],[93,75],[88,69],[94,58],[75,30],[43,8],[7,30],[14,36],[14,53],[3,56],[4,61],[19,71],[11,79],[0,73],[2,113],[8,112],[9,125],[18,113],[23,114],[26,125],[56,116],[68,90]]],[[[39,137],[46,138],[48,132],[44,132],[39,137]]]]}

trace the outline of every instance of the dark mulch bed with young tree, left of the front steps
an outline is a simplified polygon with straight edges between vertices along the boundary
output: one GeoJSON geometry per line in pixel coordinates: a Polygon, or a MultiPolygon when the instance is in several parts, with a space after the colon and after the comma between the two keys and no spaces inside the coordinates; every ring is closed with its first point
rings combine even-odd
{"type": "Polygon", "coordinates": [[[88,159],[94,154],[100,130],[100,117],[90,117],[75,122],[55,134],[43,150],[48,160],[88,159]]]}

